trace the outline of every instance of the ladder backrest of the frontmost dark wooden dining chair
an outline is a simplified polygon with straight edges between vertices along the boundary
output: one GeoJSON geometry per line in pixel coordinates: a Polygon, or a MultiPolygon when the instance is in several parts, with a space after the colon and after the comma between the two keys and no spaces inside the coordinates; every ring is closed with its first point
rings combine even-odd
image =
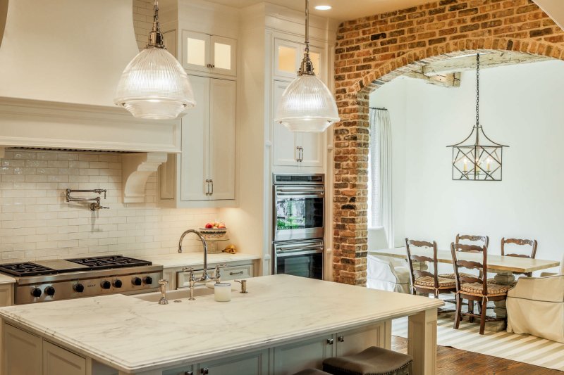
{"type": "Polygon", "coordinates": [[[450,243],[450,253],[453,255],[456,290],[460,291],[460,286],[462,285],[462,283],[479,283],[482,284],[482,293],[484,293],[484,295],[488,295],[488,274],[486,273],[488,269],[487,246],[466,245],[463,243],[453,242],[450,243]],[[458,253],[482,253],[482,262],[458,259],[458,253]],[[478,269],[479,275],[476,277],[462,275],[458,270],[459,267],[467,269],[478,269]]]}

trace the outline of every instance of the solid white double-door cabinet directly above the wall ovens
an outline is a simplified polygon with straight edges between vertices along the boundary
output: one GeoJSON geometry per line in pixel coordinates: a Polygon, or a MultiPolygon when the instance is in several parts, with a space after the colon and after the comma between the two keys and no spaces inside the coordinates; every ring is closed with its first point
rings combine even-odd
{"type": "MultiPolygon", "coordinates": [[[[273,108],[288,87],[287,82],[274,81],[273,108]]],[[[272,163],[289,167],[323,167],[324,133],[295,133],[279,122],[272,122],[272,163]]]]}

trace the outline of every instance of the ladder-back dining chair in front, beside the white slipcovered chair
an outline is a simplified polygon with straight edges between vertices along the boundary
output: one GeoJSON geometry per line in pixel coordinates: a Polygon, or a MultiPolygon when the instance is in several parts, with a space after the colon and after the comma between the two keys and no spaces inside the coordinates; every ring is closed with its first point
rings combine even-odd
{"type": "Polygon", "coordinates": [[[450,253],[453,256],[453,266],[455,272],[455,284],[456,284],[456,313],[454,318],[454,329],[458,329],[460,326],[460,320],[463,315],[467,315],[470,318],[470,322],[473,322],[474,317],[480,319],[480,334],[484,334],[484,328],[486,322],[504,320],[505,317],[489,317],[487,315],[486,305],[488,301],[498,301],[505,300],[507,298],[507,292],[509,286],[490,284],[487,280],[487,250],[486,246],[477,245],[465,245],[461,243],[451,243],[450,253]],[[458,255],[461,253],[481,253],[482,261],[472,261],[472,260],[462,260],[458,255]],[[466,269],[477,269],[479,274],[463,274],[460,272],[461,268],[466,269]],[[473,305],[473,301],[481,306],[479,314],[474,314],[472,309],[468,312],[462,312],[462,300],[468,300],[468,306],[473,305]]]}

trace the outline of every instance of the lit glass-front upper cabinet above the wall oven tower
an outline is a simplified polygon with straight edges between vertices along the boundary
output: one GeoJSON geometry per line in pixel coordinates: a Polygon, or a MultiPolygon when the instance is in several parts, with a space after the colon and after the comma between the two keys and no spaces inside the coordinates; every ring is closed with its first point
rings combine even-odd
{"type": "MultiPolygon", "coordinates": [[[[298,75],[305,53],[305,44],[286,39],[274,39],[274,78],[293,80],[298,75]]],[[[325,82],[326,69],[321,58],[324,50],[309,45],[309,59],[313,63],[315,75],[325,82]]]]}

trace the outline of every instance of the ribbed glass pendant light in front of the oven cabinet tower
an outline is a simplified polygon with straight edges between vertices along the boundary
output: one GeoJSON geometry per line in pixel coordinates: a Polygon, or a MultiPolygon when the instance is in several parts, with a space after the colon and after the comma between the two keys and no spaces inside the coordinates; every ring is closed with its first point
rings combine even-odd
{"type": "Polygon", "coordinates": [[[298,77],[284,90],[274,121],[292,132],[324,132],[339,119],[331,91],[313,71],[309,58],[309,0],[305,0],[305,54],[298,77]]]}

